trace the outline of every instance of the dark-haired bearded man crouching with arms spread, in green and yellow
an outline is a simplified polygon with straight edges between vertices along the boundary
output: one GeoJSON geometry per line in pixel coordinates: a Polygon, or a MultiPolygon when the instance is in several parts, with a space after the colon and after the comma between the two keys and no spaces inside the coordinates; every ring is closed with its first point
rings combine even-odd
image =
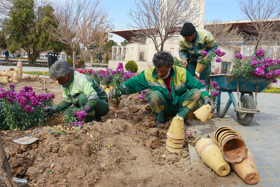
{"type": "Polygon", "coordinates": [[[164,124],[164,114],[185,118],[201,97],[205,104],[210,103],[214,108],[214,102],[209,98],[206,87],[184,68],[174,66],[169,52],[155,53],[152,62],[154,67],[144,70],[121,85],[121,94],[151,89],[148,99],[156,117],[156,127],[164,124]]]}

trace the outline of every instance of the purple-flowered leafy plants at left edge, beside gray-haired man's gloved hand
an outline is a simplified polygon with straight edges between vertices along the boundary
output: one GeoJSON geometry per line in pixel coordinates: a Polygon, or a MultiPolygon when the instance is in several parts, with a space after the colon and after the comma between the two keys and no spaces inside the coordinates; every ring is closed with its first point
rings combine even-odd
{"type": "Polygon", "coordinates": [[[31,126],[42,126],[46,120],[44,106],[52,106],[53,94],[38,94],[31,86],[24,86],[19,92],[14,85],[4,90],[0,87],[0,129],[24,130],[31,126]]]}

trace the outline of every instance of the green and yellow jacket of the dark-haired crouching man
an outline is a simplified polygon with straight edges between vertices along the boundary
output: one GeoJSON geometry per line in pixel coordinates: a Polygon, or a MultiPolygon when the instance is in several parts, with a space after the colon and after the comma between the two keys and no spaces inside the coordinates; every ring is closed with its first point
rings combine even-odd
{"type": "Polygon", "coordinates": [[[184,68],[173,65],[170,72],[170,91],[172,97],[170,97],[163,80],[156,76],[155,67],[148,68],[137,77],[132,77],[125,81],[121,85],[121,94],[132,94],[149,88],[151,91],[160,91],[172,104],[176,104],[181,95],[193,88],[201,91],[202,98],[209,96],[206,87],[193,78],[184,68]]]}

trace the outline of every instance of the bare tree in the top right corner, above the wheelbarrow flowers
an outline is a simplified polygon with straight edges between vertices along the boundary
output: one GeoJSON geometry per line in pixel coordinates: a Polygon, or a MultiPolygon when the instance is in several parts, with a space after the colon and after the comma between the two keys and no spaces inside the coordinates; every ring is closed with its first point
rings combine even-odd
{"type": "Polygon", "coordinates": [[[237,0],[244,19],[250,20],[244,29],[246,37],[255,41],[254,51],[259,42],[274,38],[280,29],[280,0],[237,0]]]}

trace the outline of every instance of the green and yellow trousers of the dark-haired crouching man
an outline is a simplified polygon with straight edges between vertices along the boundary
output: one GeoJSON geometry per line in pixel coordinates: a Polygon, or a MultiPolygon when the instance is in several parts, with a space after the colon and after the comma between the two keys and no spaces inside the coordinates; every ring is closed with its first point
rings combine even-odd
{"type": "Polygon", "coordinates": [[[201,98],[200,90],[194,88],[185,92],[176,104],[168,101],[161,92],[153,91],[149,94],[149,105],[155,117],[163,121],[164,114],[177,114],[185,118],[186,115],[197,105],[201,98]]]}

